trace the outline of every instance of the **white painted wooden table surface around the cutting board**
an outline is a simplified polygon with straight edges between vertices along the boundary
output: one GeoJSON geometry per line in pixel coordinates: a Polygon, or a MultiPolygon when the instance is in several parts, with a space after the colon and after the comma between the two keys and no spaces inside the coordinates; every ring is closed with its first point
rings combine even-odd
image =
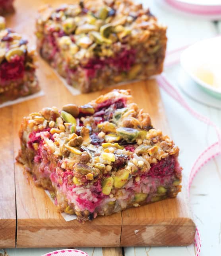
{"type": "MultiPolygon", "coordinates": [[[[213,37],[220,33],[221,23],[202,20],[186,14],[177,14],[171,9],[162,7],[160,1],[143,0],[144,5],[151,7],[162,23],[168,25],[168,51],[189,45],[200,39],[213,37]]],[[[221,17],[220,17],[221,20],[221,17]]],[[[167,68],[165,73],[174,85],[178,85],[178,65],[167,68]]],[[[188,104],[203,115],[209,117],[221,127],[221,110],[194,102],[182,92],[188,104]]],[[[171,134],[180,147],[180,163],[184,175],[188,176],[197,156],[217,140],[213,128],[194,119],[177,102],[161,90],[171,134]]],[[[190,191],[190,205],[196,225],[202,237],[201,256],[221,255],[221,157],[208,162],[197,174],[190,191]]],[[[102,256],[102,248],[80,248],[90,256],[102,256]]],[[[7,249],[9,256],[41,256],[53,248],[40,249],[7,249]]],[[[112,255],[115,254],[113,252],[112,255]]],[[[123,255],[123,254],[122,254],[123,255]]],[[[184,247],[140,247],[124,248],[125,256],[194,256],[194,246],[184,247]]]]}

